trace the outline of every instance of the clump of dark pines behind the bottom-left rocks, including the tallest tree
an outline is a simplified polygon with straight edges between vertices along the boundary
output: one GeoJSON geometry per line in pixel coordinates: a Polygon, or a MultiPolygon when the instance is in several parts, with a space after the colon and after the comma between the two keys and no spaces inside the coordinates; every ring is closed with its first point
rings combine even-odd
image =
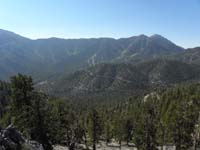
{"type": "Polygon", "coordinates": [[[18,74],[11,78],[11,121],[23,134],[52,149],[47,133],[47,97],[34,91],[31,77],[18,74]]]}

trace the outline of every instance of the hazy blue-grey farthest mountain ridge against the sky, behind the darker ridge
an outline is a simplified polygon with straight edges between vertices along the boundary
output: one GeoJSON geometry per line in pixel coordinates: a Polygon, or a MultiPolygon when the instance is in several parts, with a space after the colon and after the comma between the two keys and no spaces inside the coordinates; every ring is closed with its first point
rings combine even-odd
{"type": "Polygon", "coordinates": [[[18,72],[37,80],[71,73],[100,63],[140,63],[182,53],[183,48],[160,35],[130,38],[31,40],[0,30],[0,79],[18,72]]]}

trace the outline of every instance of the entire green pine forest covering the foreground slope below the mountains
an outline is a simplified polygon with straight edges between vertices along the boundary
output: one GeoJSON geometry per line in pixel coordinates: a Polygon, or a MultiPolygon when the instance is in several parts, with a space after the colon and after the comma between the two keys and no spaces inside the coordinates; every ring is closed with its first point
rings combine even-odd
{"type": "Polygon", "coordinates": [[[115,141],[119,147],[126,142],[141,150],[199,146],[199,84],[177,85],[123,101],[76,102],[38,92],[32,78],[21,74],[0,85],[0,107],[4,108],[0,127],[12,123],[24,137],[47,150],[55,144],[71,150],[80,145],[96,149],[101,141],[108,145],[115,141]]]}

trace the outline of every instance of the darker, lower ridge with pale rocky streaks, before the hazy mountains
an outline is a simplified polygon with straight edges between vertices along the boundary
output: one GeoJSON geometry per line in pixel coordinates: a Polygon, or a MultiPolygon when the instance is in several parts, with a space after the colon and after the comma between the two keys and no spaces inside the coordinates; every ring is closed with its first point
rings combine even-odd
{"type": "Polygon", "coordinates": [[[155,59],[138,65],[100,64],[38,85],[57,95],[102,92],[138,93],[159,86],[200,81],[200,66],[155,59]]]}

